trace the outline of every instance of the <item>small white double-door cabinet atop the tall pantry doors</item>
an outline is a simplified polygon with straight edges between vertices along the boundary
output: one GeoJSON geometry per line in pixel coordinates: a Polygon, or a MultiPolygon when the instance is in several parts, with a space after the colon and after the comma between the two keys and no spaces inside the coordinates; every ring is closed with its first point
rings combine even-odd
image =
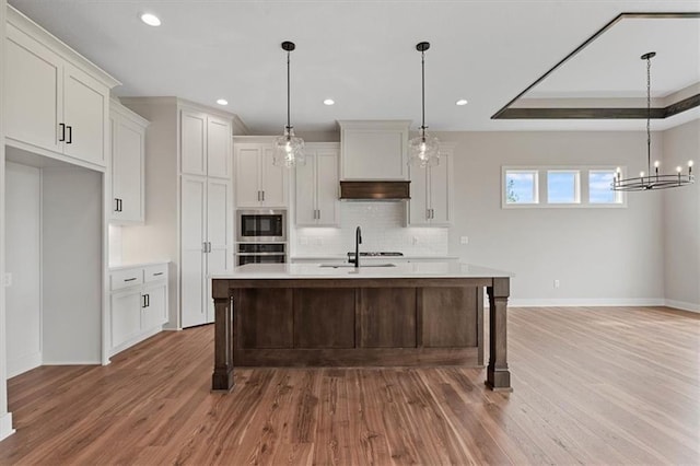
{"type": "Polygon", "coordinates": [[[231,121],[206,113],[180,110],[180,172],[231,177],[231,121]]]}

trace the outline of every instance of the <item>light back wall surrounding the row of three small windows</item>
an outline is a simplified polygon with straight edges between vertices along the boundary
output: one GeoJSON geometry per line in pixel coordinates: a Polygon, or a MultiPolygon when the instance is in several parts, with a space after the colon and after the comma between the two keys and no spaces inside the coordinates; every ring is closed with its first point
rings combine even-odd
{"type": "MultiPolygon", "coordinates": [[[[642,132],[436,136],[457,144],[450,254],[515,272],[512,304],[663,303],[662,193],[631,193],[618,209],[501,209],[502,165],[627,165],[634,173],[646,164],[642,132]]],[[[653,138],[657,158],[663,135],[653,138]]]]}

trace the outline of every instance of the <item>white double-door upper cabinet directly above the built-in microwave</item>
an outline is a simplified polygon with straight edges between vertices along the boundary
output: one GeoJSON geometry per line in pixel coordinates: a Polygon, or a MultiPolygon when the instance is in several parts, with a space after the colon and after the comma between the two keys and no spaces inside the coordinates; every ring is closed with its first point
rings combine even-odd
{"type": "Polygon", "coordinates": [[[289,170],[272,164],[272,142],[235,138],[236,207],[288,207],[289,170]]]}

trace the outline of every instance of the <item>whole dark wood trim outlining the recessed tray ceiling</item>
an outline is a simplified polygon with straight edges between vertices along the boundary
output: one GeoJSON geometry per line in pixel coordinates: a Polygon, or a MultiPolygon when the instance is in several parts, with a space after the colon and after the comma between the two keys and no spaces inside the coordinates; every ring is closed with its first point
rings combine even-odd
{"type": "MultiPolygon", "coordinates": [[[[586,48],[591,43],[597,39],[600,35],[611,28],[614,25],[619,23],[621,20],[626,18],[652,18],[652,19],[700,19],[700,12],[670,12],[670,13],[661,13],[661,12],[639,12],[639,13],[620,13],[610,20],[606,25],[600,27],[595,32],[591,37],[588,37],[583,44],[576,47],[571,54],[567,55],[562,58],[557,65],[551,67],[545,74],[537,78],[530,85],[525,88],[520,94],[513,97],[508,104],[501,107],[495,114],[491,116],[491,119],[514,119],[514,118],[544,118],[544,119],[556,119],[556,118],[646,118],[646,108],[641,110],[644,112],[644,115],[641,117],[638,116],[610,116],[610,115],[621,115],[621,114],[632,114],[635,115],[639,112],[639,108],[511,108],[515,102],[517,102],[523,95],[529,92],[533,88],[544,81],[549,74],[555,72],[558,68],[573,58],[581,50],[586,48]],[[565,116],[565,115],[572,116],[565,116]],[[520,116],[516,116],[520,115],[520,116]],[[535,116],[530,116],[535,115],[535,116]],[[563,116],[547,116],[547,115],[563,115],[563,116]]],[[[698,101],[698,95],[680,101],[676,104],[672,104],[665,108],[652,108],[652,118],[666,118],[672,115],[676,115],[680,112],[685,112],[689,108],[698,106],[700,104],[698,101]],[[693,101],[695,100],[695,101],[693,101]],[[695,105],[689,105],[687,101],[691,101],[695,105]],[[675,108],[678,106],[678,108],[675,108]],[[673,108],[673,114],[666,114],[669,109],[673,108]],[[654,116],[656,113],[663,112],[662,116],[654,116]]]]}

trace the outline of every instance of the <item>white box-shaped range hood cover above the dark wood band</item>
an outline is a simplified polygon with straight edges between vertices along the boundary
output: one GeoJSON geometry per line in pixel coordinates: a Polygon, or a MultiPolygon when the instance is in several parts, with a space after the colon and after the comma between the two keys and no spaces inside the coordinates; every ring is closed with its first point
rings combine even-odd
{"type": "Polygon", "coordinates": [[[342,120],[340,179],[408,179],[409,120],[342,120]]]}

